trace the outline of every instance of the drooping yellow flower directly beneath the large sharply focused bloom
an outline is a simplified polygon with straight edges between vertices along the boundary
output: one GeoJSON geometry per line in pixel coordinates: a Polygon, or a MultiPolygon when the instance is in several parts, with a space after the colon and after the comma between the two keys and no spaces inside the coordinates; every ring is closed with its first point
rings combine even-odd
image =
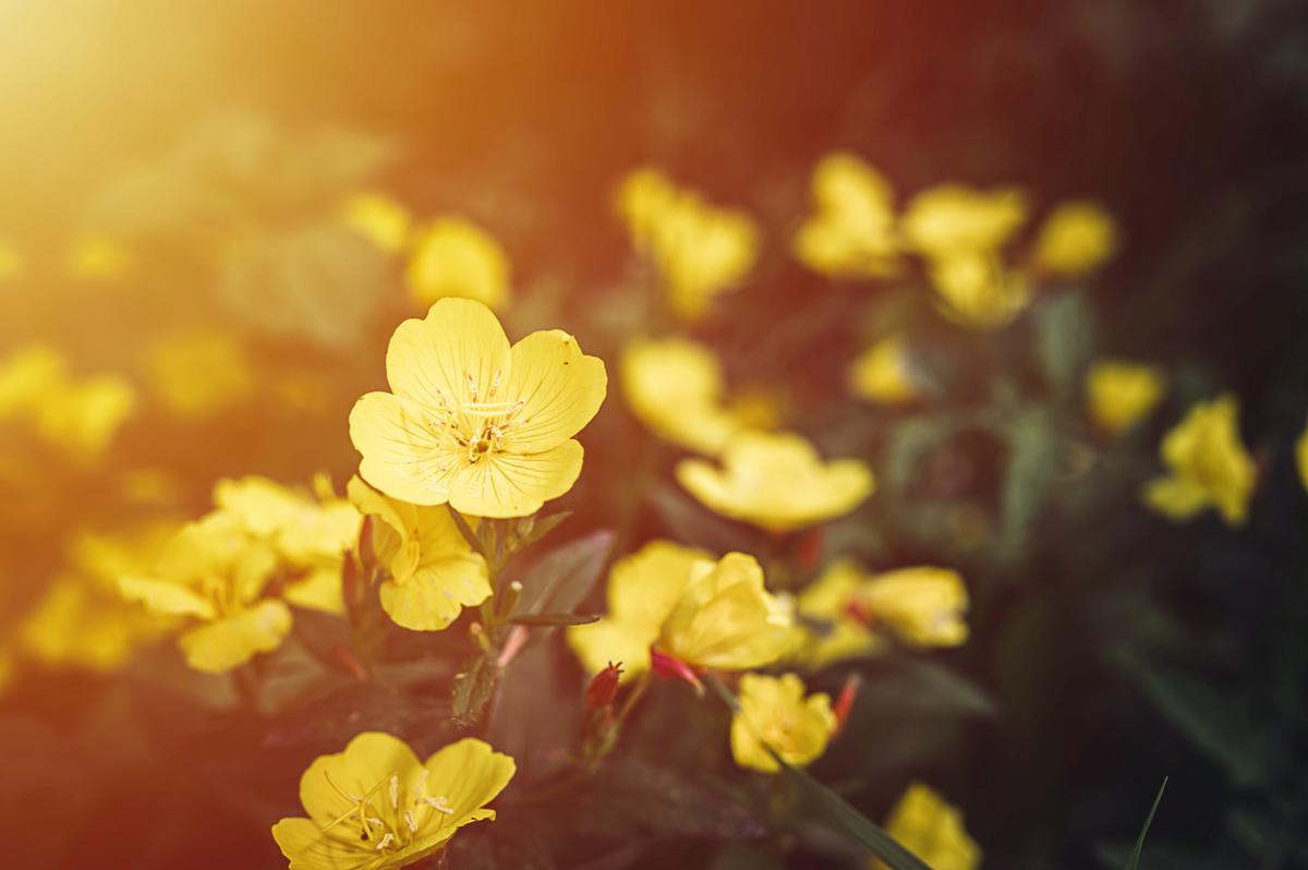
{"type": "Polygon", "coordinates": [[[490,598],[487,563],[463,539],[445,508],[388,498],[360,478],[349,498],[373,523],[373,552],[388,577],[378,595],[396,624],[434,632],[449,627],[464,607],[490,598]]]}

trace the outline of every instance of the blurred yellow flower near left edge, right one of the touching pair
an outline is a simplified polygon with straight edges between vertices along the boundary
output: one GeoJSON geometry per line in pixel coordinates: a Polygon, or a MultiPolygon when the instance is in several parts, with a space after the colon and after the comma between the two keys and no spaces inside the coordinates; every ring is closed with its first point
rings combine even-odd
{"type": "Polygon", "coordinates": [[[42,396],[37,432],[71,457],[92,461],[105,453],[135,407],[136,391],[118,375],[68,382],[42,396]]]}

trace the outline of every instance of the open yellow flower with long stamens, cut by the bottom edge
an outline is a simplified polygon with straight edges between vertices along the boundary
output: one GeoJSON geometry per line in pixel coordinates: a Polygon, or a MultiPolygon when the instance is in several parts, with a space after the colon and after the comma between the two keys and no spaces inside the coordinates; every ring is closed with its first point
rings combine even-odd
{"type": "Polygon", "coordinates": [[[403,740],[366,731],[309,765],[300,778],[309,818],[283,819],[272,836],[290,870],[404,867],[443,849],[463,826],[494,819],[487,803],[515,771],[476,738],[419,761],[403,740]]]}

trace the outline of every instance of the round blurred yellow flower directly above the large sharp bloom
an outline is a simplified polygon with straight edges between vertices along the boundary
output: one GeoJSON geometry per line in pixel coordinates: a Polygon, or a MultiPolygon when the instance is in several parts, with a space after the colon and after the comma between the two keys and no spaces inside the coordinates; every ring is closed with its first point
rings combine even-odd
{"type": "Polygon", "coordinates": [[[493,309],[509,304],[509,256],[489,233],[462,217],[442,217],[413,239],[405,279],[422,307],[437,300],[476,300],[493,309]]]}

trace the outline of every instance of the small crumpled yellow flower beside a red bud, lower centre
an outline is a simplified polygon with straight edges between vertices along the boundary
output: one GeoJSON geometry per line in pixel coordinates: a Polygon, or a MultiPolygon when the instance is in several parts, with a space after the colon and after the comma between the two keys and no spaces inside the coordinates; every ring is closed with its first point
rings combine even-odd
{"type": "Polygon", "coordinates": [[[746,674],[738,700],[740,709],[731,717],[731,755],[740,767],[780,771],[764,743],[786,764],[804,767],[825,751],[836,733],[831,697],[821,692],[804,697],[803,680],[794,674],[746,674]]]}

